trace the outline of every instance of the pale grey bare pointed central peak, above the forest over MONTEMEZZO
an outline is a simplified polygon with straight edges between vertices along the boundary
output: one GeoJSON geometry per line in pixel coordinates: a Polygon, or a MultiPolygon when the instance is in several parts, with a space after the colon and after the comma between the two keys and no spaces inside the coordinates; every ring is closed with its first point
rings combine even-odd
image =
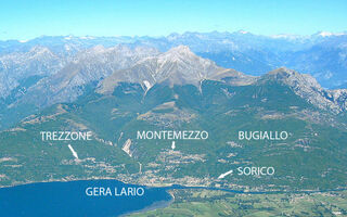
{"type": "Polygon", "coordinates": [[[198,87],[202,80],[221,80],[226,77],[239,79],[239,85],[253,80],[252,76],[219,67],[213,61],[195,55],[189,47],[179,46],[165,53],[142,59],[130,68],[116,71],[101,81],[98,92],[113,92],[117,82],[121,81],[141,84],[147,90],[155,84],[198,87]]]}

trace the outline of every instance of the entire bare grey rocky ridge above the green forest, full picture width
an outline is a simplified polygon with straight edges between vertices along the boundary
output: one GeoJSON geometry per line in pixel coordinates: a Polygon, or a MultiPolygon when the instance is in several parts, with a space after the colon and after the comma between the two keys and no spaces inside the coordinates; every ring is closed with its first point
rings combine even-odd
{"type": "MultiPolygon", "coordinates": [[[[187,46],[178,46],[167,52],[150,47],[97,46],[78,52],[68,61],[59,59],[44,48],[36,48],[34,51],[37,54],[28,60],[37,60],[35,56],[42,55],[44,58],[40,58],[41,60],[48,60],[40,62],[41,65],[34,64],[37,68],[33,75],[41,75],[42,78],[27,85],[25,89],[16,90],[18,93],[13,94],[9,103],[2,103],[4,113],[27,105],[37,111],[56,103],[74,102],[87,91],[112,94],[120,82],[139,84],[143,91],[149,91],[159,84],[170,88],[192,85],[201,90],[204,80],[228,86],[256,86],[275,81],[290,87],[318,108],[335,114],[346,111],[347,91],[326,90],[310,75],[281,67],[262,76],[249,76],[220,67],[215,62],[196,55],[187,46]],[[61,62],[54,62],[56,60],[61,62]],[[51,68],[47,67],[46,73],[38,69],[51,63],[50,61],[54,62],[55,66],[52,64],[51,68]],[[64,61],[67,63],[64,64],[64,61]]],[[[28,65],[30,63],[28,61],[28,65]]]]}

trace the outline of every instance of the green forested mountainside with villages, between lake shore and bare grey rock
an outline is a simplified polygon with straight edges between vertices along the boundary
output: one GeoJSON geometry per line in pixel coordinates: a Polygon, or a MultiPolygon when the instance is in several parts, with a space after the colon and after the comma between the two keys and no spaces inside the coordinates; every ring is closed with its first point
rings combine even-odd
{"type": "Polygon", "coordinates": [[[120,84],[112,95],[89,91],[25,122],[0,133],[1,186],[108,177],[253,190],[346,187],[345,117],[313,107],[274,81],[232,87],[206,80],[201,89],[156,85],[147,92],[120,84]],[[74,161],[67,142],[41,141],[42,130],[90,130],[94,138],[70,142],[80,158],[74,161]],[[177,140],[171,151],[170,140],[138,140],[138,130],[206,130],[209,137],[177,140]],[[290,137],[239,141],[240,130],[284,130],[290,137]],[[132,156],[121,150],[128,139],[132,156]],[[272,166],[275,174],[218,179],[240,166],[272,166]]]}

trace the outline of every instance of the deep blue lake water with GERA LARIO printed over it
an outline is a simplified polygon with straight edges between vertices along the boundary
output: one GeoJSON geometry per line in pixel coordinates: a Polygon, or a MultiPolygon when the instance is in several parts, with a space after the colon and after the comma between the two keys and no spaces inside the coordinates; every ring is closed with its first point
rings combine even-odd
{"type": "Polygon", "coordinates": [[[116,180],[30,183],[0,188],[0,216],[120,216],[165,207],[171,200],[164,188],[126,184],[116,180]],[[99,187],[110,188],[110,192],[101,192],[99,187]],[[126,191],[121,192],[123,188],[126,191]],[[141,188],[143,195],[140,195],[141,188]]]}

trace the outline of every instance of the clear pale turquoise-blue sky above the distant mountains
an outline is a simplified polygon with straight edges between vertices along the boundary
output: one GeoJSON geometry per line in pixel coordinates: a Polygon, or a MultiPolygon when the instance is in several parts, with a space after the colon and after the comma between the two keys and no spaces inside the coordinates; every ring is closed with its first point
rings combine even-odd
{"type": "Polygon", "coordinates": [[[166,36],[247,30],[347,30],[346,0],[0,0],[0,40],[61,36],[166,36]]]}

